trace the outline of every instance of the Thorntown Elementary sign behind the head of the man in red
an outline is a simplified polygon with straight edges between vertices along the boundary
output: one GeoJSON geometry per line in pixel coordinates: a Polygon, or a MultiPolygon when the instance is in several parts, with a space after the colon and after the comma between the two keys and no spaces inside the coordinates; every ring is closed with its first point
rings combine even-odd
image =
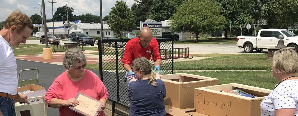
{"type": "Polygon", "coordinates": [[[149,27],[152,30],[152,36],[154,38],[162,37],[162,23],[157,22],[155,20],[148,20],[140,23],[141,23],[141,26],[140,26],[141,28],[149,27]]]}

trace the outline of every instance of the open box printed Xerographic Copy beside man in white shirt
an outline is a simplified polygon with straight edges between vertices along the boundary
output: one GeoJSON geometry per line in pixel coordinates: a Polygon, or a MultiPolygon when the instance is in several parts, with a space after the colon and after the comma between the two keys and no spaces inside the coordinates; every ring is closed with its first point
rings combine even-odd
{"type": "Polygon", "coordinates": [[[26,93],[30,104],[15,102],[15,113],[17,116],[47,116],[47,107],[44,101],[46,90],[39,85],[29,84],[18,88],[18,92],[26,90],[33,91],[26,93]]]}

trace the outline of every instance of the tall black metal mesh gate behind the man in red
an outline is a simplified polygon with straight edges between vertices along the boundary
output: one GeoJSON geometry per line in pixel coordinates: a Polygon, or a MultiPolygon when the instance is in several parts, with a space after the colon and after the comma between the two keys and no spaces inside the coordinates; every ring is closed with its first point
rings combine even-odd
{"type": "MultiPolygon", "coordinates": [[[[124,82],[125,69],[122,65],[122,56],[124,54],[125,45],[129,40],[130,39],[99,39],[98,41],[100,79],[106,86],[109,99],[113,101],[113,104],[116,102],[125,107],[129,107],[130,102],[127,91],[128,85],[127,82],[124,82]]],[[[160,55],[167,56],[167,59],[162,59],[160,70],[164,70],[164,74],[173,74],[173,39],[166,38],[156,40],[159,43],[160,55]],[[161,50],[166,50],[166,52],[161,50]]],[[[151,60],[150,62],[152,67],[154,67],[154,62],[151,60]]]]}

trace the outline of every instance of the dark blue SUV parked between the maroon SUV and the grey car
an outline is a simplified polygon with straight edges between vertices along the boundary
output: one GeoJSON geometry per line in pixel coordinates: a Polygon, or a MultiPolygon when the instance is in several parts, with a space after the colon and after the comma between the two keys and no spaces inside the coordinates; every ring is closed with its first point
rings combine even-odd
{"type": "Polygon", "coordinates": [[[94,38],[85,33],[71,33],[69,34],[68,38],[71,38],[72,42],[77,41],[77,43],[81,45],[94,46],[95,43],[94,38]]]}

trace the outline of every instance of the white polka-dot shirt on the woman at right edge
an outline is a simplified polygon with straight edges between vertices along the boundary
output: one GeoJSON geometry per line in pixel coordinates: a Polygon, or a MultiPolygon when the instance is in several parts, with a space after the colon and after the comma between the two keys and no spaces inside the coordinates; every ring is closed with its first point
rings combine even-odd
{"type": "MultiPolygon", "coordinates": [[[[298,116],[298,80],[280,83],[260,104],[261,116],[275,116],[275,109],[295,108],[298,116]]],[[[276,86],[276,85],[275,85],[276,86]]]]}

